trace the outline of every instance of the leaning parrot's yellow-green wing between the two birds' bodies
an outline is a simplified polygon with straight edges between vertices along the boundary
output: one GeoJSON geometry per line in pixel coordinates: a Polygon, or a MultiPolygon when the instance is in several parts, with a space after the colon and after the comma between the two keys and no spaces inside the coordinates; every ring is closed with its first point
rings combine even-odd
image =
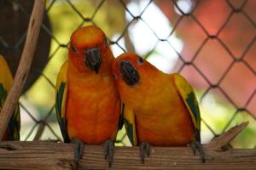
{"type": "Polygon", "coordinates": [[[125,130],[132,145],[137,145],[137,132],[135,124],[135,115],[131,109],[125,106],[124,108],[124,123],[125,130]]]}

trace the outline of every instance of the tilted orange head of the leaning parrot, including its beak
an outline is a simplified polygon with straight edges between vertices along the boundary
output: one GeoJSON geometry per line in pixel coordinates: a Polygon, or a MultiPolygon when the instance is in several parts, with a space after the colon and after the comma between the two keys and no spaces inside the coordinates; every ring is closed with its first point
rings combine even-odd
{"type": "MultiPolygon", "coordinates": [[[[125,53],[113,61],[112,72],[116,82],[125,82],[128,86],[137,85],[145,74],[154,66],[137,54],[125,53]],[[150,69],[148,69],[150,67],[150,69]]],[[[148,77],[149,78],[149,77],[148,77]]]]}

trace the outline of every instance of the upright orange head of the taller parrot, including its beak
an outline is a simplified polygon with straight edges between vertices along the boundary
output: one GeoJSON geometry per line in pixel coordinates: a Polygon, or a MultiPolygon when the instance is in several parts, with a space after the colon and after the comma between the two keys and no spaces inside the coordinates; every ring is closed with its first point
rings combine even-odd
{"type": "Polygon", "coordinates": [[[79,71],[95,71],[102,67],[103,54],[108,51],[104,32],[96,26],[84,26],[73,32],[68,48],[69,60],[79,71]]]}

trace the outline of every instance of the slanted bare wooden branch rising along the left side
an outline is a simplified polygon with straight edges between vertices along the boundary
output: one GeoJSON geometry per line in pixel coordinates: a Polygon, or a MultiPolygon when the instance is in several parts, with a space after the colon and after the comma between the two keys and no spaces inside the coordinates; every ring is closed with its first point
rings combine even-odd
{"type": "Polygon", "coordinates": [[[8,126],[10,117],[15,109],[15,105],[19,100],[21,90],[26,82],[26,78],[32,64],[33,54],[38,42],[38,34],[43,20],[45,1],[36,0],[34,2],[32,15],[27,29],[26,42],[20,58],[19,67],[16,71],[14,84],[9,91],[8,97],[4,102],[0,114],[0,140],[3,138],[3,133],[8,126]]]}

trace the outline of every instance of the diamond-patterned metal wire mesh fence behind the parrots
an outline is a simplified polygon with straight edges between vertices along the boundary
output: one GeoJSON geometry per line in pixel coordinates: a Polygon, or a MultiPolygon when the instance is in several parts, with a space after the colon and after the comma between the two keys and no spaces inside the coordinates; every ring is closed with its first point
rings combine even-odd
{"type": "MultiPolygon", "coordinates": [[[[208,29],[204,26],[203,23],[201,23],[201,20],[198,19],[198,15],[196,13],[197,8],[199,8],[198,6],[201,5],[201,1],[167,1],[166,4],[171,4],[167,8],[166,11],[170,10],[170,11],[176,11],[177,13],[177,18],[175,19],[175,21],[173,21],[174,24],[172,24],[172,30],[170,30],[169,34],[166,37],[160,37],[159,36],[159,32],[156,32],[154,30],[154,28],[152,28],[148,22],[146,20],[144,20],[143,18],[143,14],[145,13],[145,11],[148,10],[148,7],[150,7],[150,5],[154,4],[159,4],[160,1],[143,1],[144,5],[143,8],[141,8],[140,12],[138,14],[134,14],[133,11],[131,11],[131,8],[127,7],[128,3],[131,3],[131,1],[125,1],[125,0],[116,0],[116,1],[107,1],[107,0],[101,0],[101,1],[84,1],[85,2],[89,2],[94,6],[95,8],[91,8],[90,9],[90,14],[84,15],[84,13],[82,13],[82,11],[80,11],[80,9],[78,8],[78,3],[83,3],[83,1],[71,1],[71,0],[49,0],[47,7],[46,7],[46,12],[50,13],[52,11],[55,10],[55,8],[58,8],[58,5],[65,3],[65,7],[68,7],[67,11],[68,13],[73,13],[76,14],[77,20],[79,20],[79,24],[77,27],[79,26],[87,26],[87,25],[95,25],[98,26],[98,23],[96,22],[96,17],[97,15],[100,13],[100,11],[102,10],[102,6],[106,3],[108,3],[108,10],[111,10],[112,8],[114,8],[115,5],[119,5],[119,7],[123,8],[125,10],[125,14],[129,15],[129,17],[131,18],[131,20],[127,20],[125,21],[125,26],[121,26],[122,31],[120,31],[119,36],[114,38],[113,37],[108,37],[108,42],[110,42],[111,46],[116,46],[118,47],[121,51],[125,52],[126,49],[132,52],[137,52],[137,49],[132,45],[131,42],[131,37],[129,37],[129,31],[131,31],[131,29],[133,29],[133,26],[135,26],[139,21],[143,22],[143,24],[145,26],[148,26],[148,30],[152,32],[152,34],[154,35],[154,37],[157,39],[156,42],[154,42],[154,45],[152,46],[153,48],[151,48],[150,50],[148,50],[147,53],[143,54],[143,57],[146,59],[149,59],[150,56],[152,54],[154,54],[155,48],[158,47],[158,45],[162,42],[164,42],[165,44],[167,44],[168,48],[172,48],[172,50],[177,54],[178,57],[178,66],[176,67],[176,71],[180,72],[181,74],[183,74],[183,71],[186,70],[187,68],[192,68],[193,70],[195,70],[196,74],[199,75],[199,77],[201,77],[202,79],[204,79],[204,81],[207,84],[207,88],[204,87],[204,89],[199,90],[198,92],[198,96],[199,100],[201,102],[201,104],[206,100],[207,95],[211,94],[212,90],[217,90],[218,94],[221,94],[222,96],[224,96],[224,99],[226,99],[226,102],[229,103],[229,105],[232,105],[232,107],[234,107],[234,109],[232,109],[232,113],[230,114],[230,116],[228,117],[228,119],[225,121],[225,125],[221,128],[221,130],[218,130],[218,132],[216,132],[216,129],[212,127],[211,123],[208,123],[207,120],[205,119],[204,115],[202,115],[202,125],[207,129],[207,131],[210,131],[212,133],[212,137],[216,137],[218,136],[220,133],[223,133],[224,131],[226,131],[231,125],[232,123],[234,124],[234,120],[237,118],[237,116],[245,113],[246,115],[252,115],[253,118],[250,119],[250,121],[253,121],[253,123],[255,123],[255,113],[253,113],[252,111],[250,111],[248,109],[248,105],[253,105],[253,99],[255,100],[256,96],[256,88],[255,88],[255,84],[253,87],[253,90],[251,90],[249,97],[247,97],[246,101],[243,101],[244,105],[237,105],[237,102],[234,101],[234,99],[230,96],[230,93],[226,92],[226,88],[223,88],[222,83],[227,79],[227,77],[229,77],[230,71],[233,69],[236,69],[236,65],[243,65],[246,67],[247,72],[249,72],[249,74],[253,75],[253,80],[252,82],[255,80],[255,75],[256,75],[256,71],[255,71],[255,63],[250,63],[248,62],[248,60],[246,59],[248,52],[252,49],[255,48],[255,39],[256,39],[256,35],[255,35],[255,20],[253,19],[253,17],[250,14],[247,14],[247,10],[245,9],[246,6],[248,5],[248,1],[241,1],[242,3],[237,6],[234,5],[234,1],[225,1],[225,5],[230,8],[230,13],[228,14],[228,16],[226,17],[226,19],[224,20],[224,22],[222,23],[221,26],[219,26],[218,31],[214,34],[212,34],[212,32],[208,31],[208,29]],[[146,2],[146,3],[145,3],[146,2]],[[186,10],[184,10],[183,6],[181,5],[181,2],[189,2],[189,3],[193,3],[193,8],[191,8],[191,10],[189,10],[189,12],[186,12],[186,10]],[[241,53],[241,55],[237,56],[236,53],[234,53],[232,50],[232,48],[230,48],[229,44],[226,44],[226,42],[222,39],[221,34],[223,33],[223,31],[226,29],[226,27],[230,24],[230,20],[232,20],[232,17],[234,17],[235,15],[240,15],[241,17],[243,17],[243,20],[247,20],[248,24],[253,27],[254,33],[252,33],[250,35],[250,41],[247,42],[246,47],[244,48],[243,52],[241,53]],[[189,57],[189,59],[186,58],[186,56],[184,56],[179,50],[177,50],[177,48],[175,48],[175,44],[173,44],[173,42],[170,40],[171,37],[173,37],[173,35],[178,31],[178,29],[180,28],[181,25],[183,25],[184,20],[191,20],[193,22],[193,24],[195,26],[197,26],[201,31],[202,34],[204,35],[204,38],[201,39],[201,43],[200,45],[198,45],[198,48],[195,50],[194,54],[191,55],[189,57]],[[122,45],[122,39],[125,39],[125,48],[124,45],[122,45]],[[201,68],[201,65],[198,64],[198,58],[202,52],[202,50],[204,50],[204,48],[207,48],[207,43],[210,43],[212,40],[214,40],[215,42],[218,43],[218,45],[220,45],[223,50],[229,55],[230,58],[230,63],[225,65],[224,67],[224,71],[220,74],[220,76],[218,77],[217,81],[212,81],[211,78],[208,77],[208,74],[206,74],[206,72],[201,68]],[[196,62],[197,61],[197,62],[196,62]],[[254,114],[254,116],[253,116],[254,114]]],[[[140,1],[133,1],[135,3],[141,3],[140,1]]],[[[85,3],[85,5],[87,4],[85,3]]],[[[22,3],[19,3],[19,6],[22,8],[22,3]]],[[[160,6],[159,6],[160,7],[160,6]]],[[[163,9],[163,8],[160,8],[163,9]]],[[[163,9],[164,10],[164,9],[163,9]]],[[[218,10],[218,9],[216,9],[218,10]]],[[[27,11],[23,11],[24,13],[27,14],[27,11]]],[[[102,15],[101,15],[102,16],[102,15]]],[[[208,18],[208,20],[211,20],[211,16],[206,16],[208,18]]],[[[172,16],[171,16],[172,18],[172,16]]],[[[50,18],[51,22],[55,22],[55,20],[58,20],[57,18],[50,18]]],[[[102,20],[104,20],[102,18],[102,20]]],[[[170,19],[172,20],[172,19],[170,19]]],[[[72,20],[66,20],[66,22],[69,22],[71,25],[73,24],[72,20]]],[[[100,26],[102,27],[102,26],[100,26]]],[[[114,27],[114,26],[113,26],[114,27]]],[[[116,26],[119,27],[119,26],[116,26]]],[[[53,62],[55,63],[55,58],[57,56],[59,56],[60,51],[63,50],[63,53],[66,53],[67,55],[67,46],[68,46],[68,40],[67,41],[61,41],[60,38],[58,37],[57,34],[54,34],[53,31],[50,31],[46,26],[42,26],[42,29],[44,29],[44,31],[47,32],[47,34],[49,35],[49,37],[51,37],[51,41],[52,41],[52,47],[51,47],[51,53],[49,54],[49,63],[53,62]],[[54,61],[53,61],[54,60],[54,61]]],[[[104,30],[104,28],[102,28],[104,30]]],[[[188,27],[188,31],[189,31],[189,27],[188,27]]],[[[108,35],[107,35],[108,36],[108,35]]],[[[22,40],[24,40],[24,36],[20,37],[22,38],[22,40]]],[[[20,40],[20,42],[22,41],[20,40]]],[[[7,44],[7,42],[4,41],[4,39],[2,37],[0,37],[0,42],[3,43],[3,45],[7,48],[9,47],[7,44]]],[[[207,51],[208,54],[211,54],[212,51],[207,51]]],[[[66,56],[67,57],[67,56],[66,56]]],[[[255,54],[254,54],[255,57],[255,54]]],[[[60,59],[61,57],[59,57],[60,59]]],[[[65,58],[65,56],[63,56],[61,58],[61,60],[63,61],[65,58]]],[[[219,61],[221,62],[221,60],[219,61]]],[[[58,64],[60,65],[60,64],[58,64]]],[[[51,65],[53,66],[53,65],[51,65]]],[[[50,72],[46,71],[41,72],[41,77],[40,79],[44,79],[44,84],[48,83],[47,86],[50,86],[51,88],[53,88],[50,93],[54,95],[54,84],[55,84],[55,75],[57,74],[57,72],[50,72]],[[54,75],[54,76],[52,76],[54,75]]],[[[185,76],[186,77],[186,76],[185,76]]],[[[189,77],[188,77],[189,78],[189,77]]],[[[241,77],[242,78],[242,77],[241,77]]],[[[189,80],[191,80],[191,77],[189,78],[189,80]]],[[[254,81],[255,82],[255,81],[254,81]]],[[[35,87],[34,87],[35,88],[35,87]]],[[[234,92],[236,93],[236,92],[234,92]]],[[[31,121],[34,122],[33,125],[31,127],[27,127],[28,130],[26,130],[26,133],[24,133],[24,137],[23,139],[27,140],[27,139],[40,139],[43,135],[43,133],[45,133],[45,131],[47,131],[50,135],[48,137],[46,137],[47,139],[57,139],[57,140],[61,140],[61,136],[60,133],[56,133],[55,129],[56,129],[56,125],[53,125],[55,123],[55,104],[52,103],[51,106],[49,106],[49,111],[44,111],[44,116],[35,116],[35,113],[29,109],[27,109],[26,107],[26,95],[22,97],[23,99],[20,99],[20,107],[23,109],[24,112],[26,112],[26,114],[31,117],[31,121]]],[[[54,101],[54,100],[53,100],[54,101]]],[[[217,125],[218,126],[218,125],[217,125]]],[[[255,129],[254,129],[255,130],[255,129]]],[[[202,138],[204,138],[203,134],[202,138]]],[[[125,139],[125,133],[121,133],[121,135],[119,135],[119,142],[122,144],[127,144],[127,139],[125,142],[123,142],[125,139]]],[[[256,142],[254,142],[254,144],[256,144],[256,142]]]]}

